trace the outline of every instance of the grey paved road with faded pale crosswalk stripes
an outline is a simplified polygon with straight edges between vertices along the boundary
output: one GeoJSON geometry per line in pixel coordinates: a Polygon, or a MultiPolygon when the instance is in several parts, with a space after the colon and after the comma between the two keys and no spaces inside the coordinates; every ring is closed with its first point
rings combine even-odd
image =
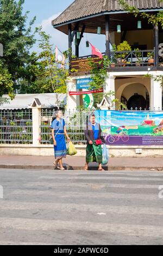
{"type": "Polygon", "coordinates": [[[0,170],[0,245],[163,245],[162,172],[0,170]]]}

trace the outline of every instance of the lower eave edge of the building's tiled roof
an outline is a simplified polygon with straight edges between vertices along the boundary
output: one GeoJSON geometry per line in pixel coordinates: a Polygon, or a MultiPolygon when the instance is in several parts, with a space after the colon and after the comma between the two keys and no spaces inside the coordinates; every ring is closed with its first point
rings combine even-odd
{"type": "MultiPolygon", "coordinates": [[[[160,10],[163,10],[162,8],[157,8],[157,9],[140,9],[140,12],[143,13],[143,12],[152,12],[152,11],[160,11],[160,10]]],[[[66,22],[62,22],[62,23],[58,23],[57,25],[54,25],[53,22],[55,20],[52,20],[52,26],[54,28],[58,28],[58,27],[61,27],[61,26],[64,26],[64,25],[68,25],[70,23],[73,23],[73,22],[77,22],[77,21],[81,21],[81,20],[87,20],[91,17],[97,17],[97,16],[102,16],[102,15],[106,15],[106,14],[121,14],[121,13],[128,13],[128,11],[123,11],[123,10],[120,10],[120,11],[104,11],[103,13],[97,13],[97,14],[93,14],[93,15],[89,15],[89,16],[85,16],[85,17],[80,17],[79,19],[74,19],[74,20],[70,20],[70,21],[66,21],[66,22]]]]}

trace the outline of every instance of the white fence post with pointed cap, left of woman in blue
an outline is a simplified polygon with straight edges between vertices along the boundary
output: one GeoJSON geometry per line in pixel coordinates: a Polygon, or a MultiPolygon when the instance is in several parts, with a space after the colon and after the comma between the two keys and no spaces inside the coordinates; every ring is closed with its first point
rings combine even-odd
{"type": "Polygon", "coordinates": [[[40,145],[41,134],[41,103],[39,99],[34,99],[32,105],[32,127],[33,127],[33,145],[40,145]]]}

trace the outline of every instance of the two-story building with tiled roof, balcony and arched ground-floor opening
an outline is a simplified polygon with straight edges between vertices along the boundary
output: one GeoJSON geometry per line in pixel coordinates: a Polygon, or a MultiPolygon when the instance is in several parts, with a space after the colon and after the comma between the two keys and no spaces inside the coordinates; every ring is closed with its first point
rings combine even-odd
{"type": "MultiPolygon", "coordinates": [[[[140,13],[157,14],[163,10],[159,0],[126,1],[140,13]]],[[[77,70],[67,81],[68,91],[77,91],[77,79],[90,78],[88,56],[79,56],[83,33],[105,34],[106,51],[111,60],[104,91],[115,91],[115,97],[128,109],[162,110],[162,87],[155,79],[163,76],[163,31],[141,15],[135,17],[124,11],[118,0],[76,0],[52,21],[55,29],[67,34],[68,48],[75,44],[76,59],[71,59],[77,70]],[[112,45],[128,41],[131,49],[114,51],[112,45]],[[146,74],[151,77],[145,77],[146,74]]],[[[91,56],[92,58],[95,56],[91,56]]],[[[96,61],[97,58],[95,58],[96,61]]],[[[67,108],[75,109],[81,103],[79,96],[67,94],[67,108]]]]}

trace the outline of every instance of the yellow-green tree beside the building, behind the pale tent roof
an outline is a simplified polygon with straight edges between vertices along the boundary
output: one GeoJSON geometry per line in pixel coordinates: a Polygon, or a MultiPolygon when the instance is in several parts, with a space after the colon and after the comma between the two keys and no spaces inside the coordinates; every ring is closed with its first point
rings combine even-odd
{"type": "MultiPolygon", "coordinates": [[[[59,94],[66,93],[66,79],[68,68],[60,68],[55,59],[55,47],[50,43],[51,36],[36,28],[40,35],[39,47],[41,52],[33,52],[27,66],[22,69],[26,79],[21,82],[21,92],[26,93],[47,93],[54,92],[57,96],[57,105],[60,105],[59,94]],[[26,73],[26,74],[25,74],[26,73]]],[[[67,53],[65,52],[65,58],[67,53]]]]}

